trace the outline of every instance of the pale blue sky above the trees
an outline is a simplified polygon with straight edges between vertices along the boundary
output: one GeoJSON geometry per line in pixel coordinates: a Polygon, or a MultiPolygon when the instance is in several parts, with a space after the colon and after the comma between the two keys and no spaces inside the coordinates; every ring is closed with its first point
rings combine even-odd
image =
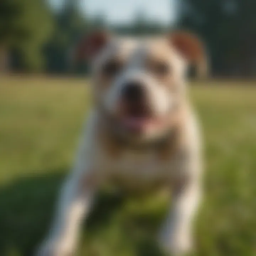
{"type": "MultiPolygon", "coordinates": [[[[63,0],[49,0],[53,7],[59,8],[63,0]]],[[[105,14],[109,23],[128,23],[138,10],[145,16],[163,24],[175,19],[175,0],[81,0],[81,8],[93,17],[105,14]]]]}

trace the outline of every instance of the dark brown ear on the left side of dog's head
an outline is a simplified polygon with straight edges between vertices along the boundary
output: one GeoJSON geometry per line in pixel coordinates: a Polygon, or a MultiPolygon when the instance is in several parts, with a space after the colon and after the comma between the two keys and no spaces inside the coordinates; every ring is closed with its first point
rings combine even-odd
{"type": "Polygon", "coordinates": [[[107,44],[110,34],[106,31],[94,31],[83,37],[74,48],[73,62],[91,61],[107,44]]]}

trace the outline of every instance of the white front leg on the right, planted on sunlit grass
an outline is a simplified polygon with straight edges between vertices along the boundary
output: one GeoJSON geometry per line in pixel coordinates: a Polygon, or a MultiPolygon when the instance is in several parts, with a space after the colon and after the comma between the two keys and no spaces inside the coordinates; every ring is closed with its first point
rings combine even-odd
{"type": "Polygon", "coordinates": [[[175,188],[173,200],[160,243],[172,255],[183,255],[192,249],[192,223],[201,198],[199,180],[192,179],[181,188],[175,188]]]}

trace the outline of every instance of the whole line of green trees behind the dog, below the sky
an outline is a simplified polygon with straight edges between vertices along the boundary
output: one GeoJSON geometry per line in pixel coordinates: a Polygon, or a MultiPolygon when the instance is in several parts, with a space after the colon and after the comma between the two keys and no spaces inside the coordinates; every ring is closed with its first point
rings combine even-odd
{"type": "Polygon", "coordinates": [[[184,28],[206,43],[213,76],[256,74],[255,0],[177,0],[177,5],[172,27],[149,21],[143,10],[128,25],[110,26],[104,14],[88,18],[79,0],[65,0],[58,11],[46,0],[1,0],[0,72],[84,73],[84,65],[71,71],[71,48],[100,27],[135,35],[184,28]]]}

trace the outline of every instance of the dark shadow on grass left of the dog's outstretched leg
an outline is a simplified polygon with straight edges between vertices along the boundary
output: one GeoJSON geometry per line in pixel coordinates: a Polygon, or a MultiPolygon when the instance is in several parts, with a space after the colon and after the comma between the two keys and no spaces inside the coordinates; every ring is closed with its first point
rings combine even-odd
{"type": "Polygon", "coordinates": [[[23,177],[0,188],[0,255],[32,255],[54,209],[64,170],[23,177]]]}

